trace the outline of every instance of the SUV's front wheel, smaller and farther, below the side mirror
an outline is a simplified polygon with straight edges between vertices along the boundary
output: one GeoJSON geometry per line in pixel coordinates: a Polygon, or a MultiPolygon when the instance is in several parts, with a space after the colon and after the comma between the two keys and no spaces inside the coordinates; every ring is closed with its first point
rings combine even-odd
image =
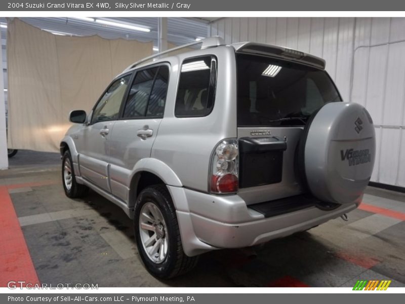
{"type": "Polygon", "coordinates": [[[75,199],[84,197],[89,188],[76,182],[72,157],[70,151],[66,150],[62,157],[62,184],[68,198],[75,199]]]}

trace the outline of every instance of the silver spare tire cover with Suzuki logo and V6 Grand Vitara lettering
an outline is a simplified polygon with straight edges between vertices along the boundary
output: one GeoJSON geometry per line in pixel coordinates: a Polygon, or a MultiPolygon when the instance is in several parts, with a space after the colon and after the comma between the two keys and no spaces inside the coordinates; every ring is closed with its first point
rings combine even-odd
{"type": "Polygon", "coordinates": [[[360,203],[374,167],[373,120],[357,103],[330,102],[313,113],[298,145],[304,185],[322,202],[360,203]]]}

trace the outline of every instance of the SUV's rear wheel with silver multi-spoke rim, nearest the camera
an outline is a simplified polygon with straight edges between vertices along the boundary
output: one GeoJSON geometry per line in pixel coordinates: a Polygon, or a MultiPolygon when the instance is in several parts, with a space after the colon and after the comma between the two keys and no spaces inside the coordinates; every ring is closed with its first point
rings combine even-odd
{"type": "Polygon", "coordinates": [[[135,238],[147,271],[161,279],[182,275],[195,267],[198,256],[183,251],[176,210],[166,185],[143,189],[135,203],[135,238]]]}

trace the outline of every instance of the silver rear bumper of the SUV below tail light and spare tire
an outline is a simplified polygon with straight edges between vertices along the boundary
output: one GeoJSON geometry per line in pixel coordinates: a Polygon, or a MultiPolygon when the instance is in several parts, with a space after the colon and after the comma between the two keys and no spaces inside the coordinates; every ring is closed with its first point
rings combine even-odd
{"type": "Polygon", "coordinates": [[[253,246],[305,231],[357,207],[309,207],[265,218],[237,195],[213,196],[168,186],[175,202],[183,249],[189,256],[220,248],[253,246]]]}

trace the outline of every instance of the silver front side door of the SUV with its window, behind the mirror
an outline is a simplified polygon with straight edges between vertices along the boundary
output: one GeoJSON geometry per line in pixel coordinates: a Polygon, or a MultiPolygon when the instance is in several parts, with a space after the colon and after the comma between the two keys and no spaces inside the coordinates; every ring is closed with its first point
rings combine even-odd
{"type": "Polygon", "coordinates": [[[107,192],[110,137],[130,78],[131,74],[127,74],[112,82],[94,107],[90,124],[75,140],[81,175],[107,192]]]}

